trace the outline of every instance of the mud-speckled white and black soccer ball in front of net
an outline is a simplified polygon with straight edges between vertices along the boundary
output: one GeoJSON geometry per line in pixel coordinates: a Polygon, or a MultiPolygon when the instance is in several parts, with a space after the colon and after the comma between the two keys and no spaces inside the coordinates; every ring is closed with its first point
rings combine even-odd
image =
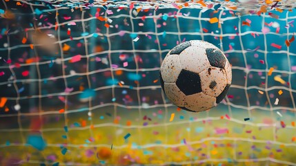
{"type": "Polygon", "coordinates": [[[206,111],[224,99],[232,74],[219,48],[201,40],[178,44],[164,58],[159,72],[168,99],[186,111],[206,111]]]}

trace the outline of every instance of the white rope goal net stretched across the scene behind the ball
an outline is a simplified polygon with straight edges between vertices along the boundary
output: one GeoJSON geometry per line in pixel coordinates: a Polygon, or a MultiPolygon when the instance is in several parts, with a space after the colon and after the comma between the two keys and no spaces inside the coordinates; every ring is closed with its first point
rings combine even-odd
{"type": "Polygon", "coordinates": [[[1,0],[0,162],[296,165],[293,6],[1,0]],[[200,113],[159,83],[168,51],[193,39],[233,72],[226,98],[200,113]]]}

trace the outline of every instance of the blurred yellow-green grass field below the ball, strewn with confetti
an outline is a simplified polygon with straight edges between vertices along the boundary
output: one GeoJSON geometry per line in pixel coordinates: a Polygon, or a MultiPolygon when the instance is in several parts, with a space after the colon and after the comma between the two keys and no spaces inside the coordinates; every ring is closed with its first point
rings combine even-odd
{"type": "Polygon", "coordinates": [[[1,165],[11,160],[19,165],[296,165],[295,114],[279,113],[282,117],[226,106],[201,113],[111,106],[92,111],[91,119],[86,111],[67,113],[66,120],[64,113],[46,114],[41,151],[24,144],[40,122],[39,116],[27,116],[21,118],[22,131],[2,125],[0,160],[1,165]],[[102,147],[111,156],[101,158],[102,147]]]}

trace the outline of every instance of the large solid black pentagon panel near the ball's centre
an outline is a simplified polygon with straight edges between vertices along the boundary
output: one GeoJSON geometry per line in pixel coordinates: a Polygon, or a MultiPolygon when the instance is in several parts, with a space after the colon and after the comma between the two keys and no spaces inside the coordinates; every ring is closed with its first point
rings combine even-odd
{"type": "Polygon", "coordinates": [[[200,77],[198,73],[192,71],[182,69],[177,78],[176,84],[185,95],[193,95],[201,92],[200,77]]]}

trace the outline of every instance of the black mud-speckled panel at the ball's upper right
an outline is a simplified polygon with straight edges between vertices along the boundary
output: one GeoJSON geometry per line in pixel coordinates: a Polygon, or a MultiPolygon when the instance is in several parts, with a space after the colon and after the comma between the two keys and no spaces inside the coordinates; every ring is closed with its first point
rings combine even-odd
{"type": "Polygon", "coordinates": [[[215,48],[206,48],[206,55],[211,66],[224,68],[226,64],[226,57],[223,55],[221,50],[215,48]]]}

